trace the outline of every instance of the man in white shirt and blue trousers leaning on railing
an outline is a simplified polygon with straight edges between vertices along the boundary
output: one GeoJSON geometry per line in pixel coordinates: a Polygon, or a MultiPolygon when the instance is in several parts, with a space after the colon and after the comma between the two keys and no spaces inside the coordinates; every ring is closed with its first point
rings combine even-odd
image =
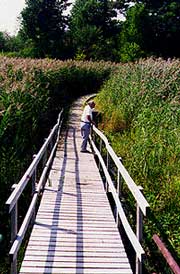
{"type": "Polygon", "coordinates": [[[81,144],[81,152],[88,152],[87,150],[87,142],[90,134],[91,124],[95,125],[92,117],[92,110],[95,107],[95,102],[90,101],[87,106],[85,106],[82,116],[81,116],[81,136],[82,136],[82,144],[81,144]]]}

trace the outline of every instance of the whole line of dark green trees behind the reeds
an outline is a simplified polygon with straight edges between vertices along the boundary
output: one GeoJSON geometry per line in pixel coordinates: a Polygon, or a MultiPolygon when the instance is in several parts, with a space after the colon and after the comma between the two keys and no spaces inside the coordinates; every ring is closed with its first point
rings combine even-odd
{"type": "Polygon", "coordinates": [[[115,62],[180,57],[179,0],[76,0],[71,5],[68,0],[26,0],[17,36],[1,32],[0,51],[115,62]]]}

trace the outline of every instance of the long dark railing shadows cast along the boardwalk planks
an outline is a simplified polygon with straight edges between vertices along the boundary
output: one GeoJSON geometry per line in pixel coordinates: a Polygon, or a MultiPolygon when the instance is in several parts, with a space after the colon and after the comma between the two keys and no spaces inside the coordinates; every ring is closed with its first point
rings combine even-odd
{"type": "MultiPolygon", "coordinates": [[[[69,171],[68,171],[69,172],[69,171]]],[[[71,173],[71,171],[70,171],[71,173]]],[[[49,189],[48,189],[49,190],[49,189]]],[[[51,190],[50,190],[51,191],[51,190]]],[[[45,261],[45,266],[44,270],[42,273],[47,273],[46,270],[48,268],[48,273],[51,273],[51,268],[53,268],[54,260],[55,260],[55,252],[56,252],[56,246],[57,246],[57,237],[58,237],[58,232],[64,232],[68,234],[74,234],[76,235],[76,273],[79,273],[79,269],[81,269],[81,273],[83,274],[83,265],[84,265],[84,260],[83,260],[83,211],[82,211],[82,193],[81,193],[81,186],[80,186],[80,176],[79,176],[79,157],[78,157],[78,150],[77,150],[77,144],[76,144],[76,128],[70,127],[66,131],[65,135],[65,140],[64,140],[64,155],[63,155],[63,163],[62,163],[62,169],[60,172],[60,179],[59,179],[59,186],[58,186],[58,191],[57,191],[57,196],[55,200],[55,205],[54,205],[54,213],[52,217],[52,224],[47,225],[43,223],[38,223],[39,226],[43,226],[47,229],[49,229],[50,232],[50,237],[49,237],[49,244],[48,244],[48,250],[47,250],[47,257],[45,261]],[[72,146],[74,150],[74,155],[75,157],[73,158],[68,158],[67,155],[67,139],[68,135],[72,135],[73,141],[72,141],[72,146]],[[67,172],[67,161],[68,159],[73,159],[74,160],[74,173],[75,173],[75,188],[76,188],[76,194],[73,193],[67,193],[63,191],[64,188],[64,177],[65,173],[67,172]],[[61,218],[61,201],[62,201],[62,196],[63,195],[69,195],[70,199],[71,197],[76,197],[76,204],[77,204],[77,215],[76,215],[76,229],[64,229],[59,227],[59,219],[61,218]],[[58,209],[58,210],[57,210],[58,209]]],[[[61,272],[61,267],[59,269],[61,272]]]]}

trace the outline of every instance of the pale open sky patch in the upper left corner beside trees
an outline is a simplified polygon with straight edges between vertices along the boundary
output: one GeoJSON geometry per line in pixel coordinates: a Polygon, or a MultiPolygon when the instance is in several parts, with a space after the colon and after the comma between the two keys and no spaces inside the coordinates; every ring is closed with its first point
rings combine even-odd
{"type": "Polygon", "coordinates": [[[17,33],[18,16],[25,6],[25,0],[0,0],[0,31],[10,35],[17,33]]]}

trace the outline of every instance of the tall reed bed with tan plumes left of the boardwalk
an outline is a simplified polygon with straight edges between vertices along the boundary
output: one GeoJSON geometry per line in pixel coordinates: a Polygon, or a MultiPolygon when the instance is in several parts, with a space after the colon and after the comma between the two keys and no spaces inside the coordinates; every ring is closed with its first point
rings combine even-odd
{"type": "Polygon", "coordinates": [[[11,186],[42,145],[61,107],[97,91],[113,67],[110,63],[0,57],[0,234],[4,236],[0,253],[4,254],[8,243],[5,201],[11,186]]]}

